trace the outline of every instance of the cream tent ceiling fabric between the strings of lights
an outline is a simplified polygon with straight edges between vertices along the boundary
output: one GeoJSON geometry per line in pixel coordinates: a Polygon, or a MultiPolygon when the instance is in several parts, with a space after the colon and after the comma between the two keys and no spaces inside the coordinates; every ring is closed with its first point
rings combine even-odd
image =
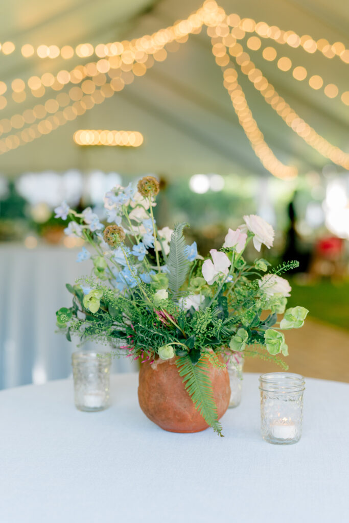
{"type": "MultiPolygon", "coordinates": [[[[349,5],[345,0],[218,3],[227,14],[238,13],[241,18],[265,21],[269,26],[310,35],[314,40],[340,41],[349,48],[349,5]]],[[[70,60],[51,60],[40,59],[36,54],[25,59],[20,53],[25,43],[35,48],[40,44],[75,48],[84,42],[96,46],[101,42],[130,40],[187,18],[200,5],[200,0],[12,0],[3,3],[2,42],[12,41],[16,49],[9,55],[0,53],[0,80],[10,86],[15,78],[27,82],[32,75],[57,74],[61,69],[69,70],[94,59],[74,55],[70,60]]],[[[348,64],[339,56],[329,59],[320,51],[308,53],[301,47],[292,48],[263,38],[259,50],[249,50],[246,41],[250,36],[252,33],[246,33],[240,43],[278,94],[319,134],[348,153],[349,108],[341,100],[341,94],[349,90],[348,64]],[[262,51],[268,46],[277,51],[273,61],[263,59],[262,51]],[[282,56],[292,61],[288,72],[277,67],[277,60],[282,56]],[[294,66],[306,68],[305,80],[297,81],[292,76],[294,66]],[[335,84],[339,95],[331,99],[325,96],[323,88],[310,88],[308,79],[312,75],[320,75],[324,86],[335,84]]],[[[239,81],[265,141],[280,161],[296,165],[300,173],[319,171],[331,163],[287,127],[245,75],[240,74],[239,81]]],[[[70,87],[65,86],[63,91],[70,87]]],[[[9,119],[58,94],[48,88],[42,98],[33,98],[29,91],[25,101],[15,103],[11,92],[9,87],[4,95],[8,103],[0,111],[2,119],[9,119]]],[[[189,35],[188,41],[181,43],[176,52],[168,52],[165,61],[155,62],[144,76],[136,77],[102,104],[47,135],[0,155],[0,172],[6,175],[68,168],[116,170],[131,175],[154,172],[170,177],[199,172],[268,174],[251,149],[223,87],[222,71],[212,54],[206,27],[197,35],[189,35]],[[82,147],[73,142],[77,129],[140,131],[144,142],[137,148],[82,147]]]]}

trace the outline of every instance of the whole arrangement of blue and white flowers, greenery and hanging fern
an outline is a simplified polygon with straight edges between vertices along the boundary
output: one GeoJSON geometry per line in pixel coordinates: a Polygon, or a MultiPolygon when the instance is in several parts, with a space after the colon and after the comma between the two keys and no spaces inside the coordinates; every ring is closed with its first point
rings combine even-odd
{"type": "Polygon", "coordinates": [[[208,362],[224,367],[235,353],[273,359],[288,348],[282,331],[303,325],[308,311],[286,310],[291,288],[282,278],[289,263],[271,269],[263,258],[247,263],[250,241],[259,252],[271,248],[274,230],[256,215],[229,229],[219,251],[202,258],[196,243],[187,245],[183,230],[158,229],[153,208],[159,183],[142,178],[137,189],[114,187],[105,195],[105,226],[91,208],[81,214],[65,202],[56,217],[70,219],[65,233],[84,238],[91,246],[77,261],[90,259],[92,274],[75,285],[70,308],[57,312],[60,331],[84,342],[110,344],[117,356],[152,364],[173,359],[196,409],[221,435],[208,362]],[[90,253],[93,252],[93,254],[90,253]],[[263,311],[269,311],[261,319],[263,311]],[[277,314],[284,314],[278,324],[277,314]]]}

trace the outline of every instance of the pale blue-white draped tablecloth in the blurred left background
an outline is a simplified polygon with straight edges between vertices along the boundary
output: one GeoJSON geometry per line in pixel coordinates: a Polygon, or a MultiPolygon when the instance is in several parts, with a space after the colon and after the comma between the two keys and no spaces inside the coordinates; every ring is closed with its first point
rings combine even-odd
{"type": "MultiPolygon", "coordinates": [[[[77,252],[63,247],[0,246],[0,389],[71,373],[76,344],[55,333],[55,311],[71,304],[65,283],[74,283],[91,270],[88,261],[76,263],[77,252]]],[[[136,370],[136,364],[119,359],[112,370],[129,372],[136,370]]]]}

